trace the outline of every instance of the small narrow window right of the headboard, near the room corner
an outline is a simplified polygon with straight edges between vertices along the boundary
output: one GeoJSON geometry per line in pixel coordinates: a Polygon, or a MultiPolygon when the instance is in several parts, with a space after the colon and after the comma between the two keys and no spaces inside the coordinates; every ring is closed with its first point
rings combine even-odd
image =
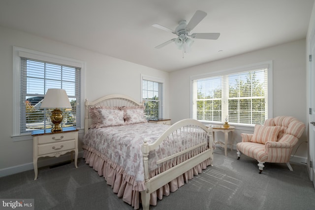
{"type": "Polygon", "coordinates": [[[142,77],[142,99],[147,120],[163,118],[163,82],[142,77]]]}

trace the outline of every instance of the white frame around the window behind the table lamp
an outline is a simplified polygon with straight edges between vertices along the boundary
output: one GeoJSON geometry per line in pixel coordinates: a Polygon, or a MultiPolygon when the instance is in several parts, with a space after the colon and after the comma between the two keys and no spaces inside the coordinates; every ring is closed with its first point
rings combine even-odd
{"type": "Polygon", "coordinates": [[[62,65],[68,65],[81,68],[81,129],[84,125],[84,98],[85,92],[83,84],[85,84],[85,69],[86,62],[82,60],[70,59],[53,54],[43,53],[35,50],[25,49],[21,47],[13,46],[13,141],[25,141],[31,140],[31,133],[20,132],[20,96],[21,96],[21,58],[41,60],[45,62],[58,63],[62,65]]]}

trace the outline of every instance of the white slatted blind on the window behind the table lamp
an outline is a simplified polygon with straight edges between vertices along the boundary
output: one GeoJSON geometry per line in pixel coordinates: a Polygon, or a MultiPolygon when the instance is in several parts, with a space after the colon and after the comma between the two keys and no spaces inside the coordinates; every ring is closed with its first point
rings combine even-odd
{"type": "Polygon", "coordinates": [[[63,109],[62,126],[80,127],[81,68],[21,58],[20,133],[51,128],[51,110],[40,108],[50,88],[64,89],[71,109],[63,109]]]}

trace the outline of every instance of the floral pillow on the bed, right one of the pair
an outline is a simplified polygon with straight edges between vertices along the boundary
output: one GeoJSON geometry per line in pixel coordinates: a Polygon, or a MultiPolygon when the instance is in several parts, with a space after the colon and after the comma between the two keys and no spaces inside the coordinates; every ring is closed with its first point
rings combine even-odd
{"type": "Polygon", "coordinates": [[[124,107],[124,120],[125,124],[148,122],[144,116],[143,106],[124,107]]]}

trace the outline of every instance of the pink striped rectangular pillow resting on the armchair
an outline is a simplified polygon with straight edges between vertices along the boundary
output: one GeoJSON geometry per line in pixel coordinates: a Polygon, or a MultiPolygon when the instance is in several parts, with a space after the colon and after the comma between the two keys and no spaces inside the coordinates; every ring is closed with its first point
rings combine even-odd
{"type": "Polygon", "coordinates": [[[251,142],[265,144],[266,142],[277,142],[281,126],[255,125],[251,142]]]}

